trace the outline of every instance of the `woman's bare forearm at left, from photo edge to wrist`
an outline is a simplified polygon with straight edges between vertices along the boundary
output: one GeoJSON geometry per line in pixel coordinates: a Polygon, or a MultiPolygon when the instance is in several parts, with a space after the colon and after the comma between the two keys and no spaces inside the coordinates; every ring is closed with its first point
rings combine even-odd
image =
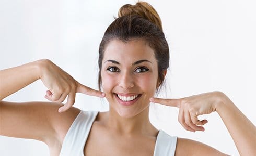
{"type": "Polygon", "coordinates": [[[0,71],[0,100],[40,79],[40,61],[0,71]]]}

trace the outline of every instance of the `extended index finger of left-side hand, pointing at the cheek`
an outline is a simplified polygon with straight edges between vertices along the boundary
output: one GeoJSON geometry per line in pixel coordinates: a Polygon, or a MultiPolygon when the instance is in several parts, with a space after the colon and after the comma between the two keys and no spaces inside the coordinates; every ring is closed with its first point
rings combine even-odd
{"type": "Polygon", "coordinates": [[[90,87],[87,87],[87,86],[79,84],[79,83],[78,83],[76,92],[87,94],[90,96],[97,96],[97,97],[105,97],[106,96],[105,93],[103,93],[99,90],[92,89],[90,87]]]}

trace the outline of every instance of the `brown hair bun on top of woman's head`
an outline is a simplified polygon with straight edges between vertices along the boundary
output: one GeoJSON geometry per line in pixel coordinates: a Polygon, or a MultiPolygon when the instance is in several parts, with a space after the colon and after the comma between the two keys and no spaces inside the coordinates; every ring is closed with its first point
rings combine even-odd
{"type": "Polygon", "coordinates": [[[137,2],[135,5],[123,5],[118,11],[118,17],[126,15],[139,15],[156,24],[162,31],[162,22],[157,11],[147,2],[137,2]]]}

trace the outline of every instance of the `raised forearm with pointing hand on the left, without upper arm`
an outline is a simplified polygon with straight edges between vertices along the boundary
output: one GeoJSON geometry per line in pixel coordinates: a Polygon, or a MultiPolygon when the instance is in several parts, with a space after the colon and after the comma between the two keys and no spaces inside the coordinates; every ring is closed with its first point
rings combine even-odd
{"type": "Polygon", "coordinates": [[[75,103],[76,93],[104,97],[104,93],[78,83],[52,61],[42,59],[0,71],[0,100],[38,79],[49,89],[45,95],[46,99],[61,103],[67,97],[66,105],[60,108],[59,112],[71,108],[75,103]]]}

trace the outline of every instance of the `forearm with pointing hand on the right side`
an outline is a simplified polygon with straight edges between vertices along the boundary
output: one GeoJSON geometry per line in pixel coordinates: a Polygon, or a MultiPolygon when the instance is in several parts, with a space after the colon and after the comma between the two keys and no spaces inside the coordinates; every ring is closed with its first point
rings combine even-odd
{"type": "MultiPolygon", "coordinates": [[[[203,93],[180,99],[152,98],[150,100],[155,103],[161,103],[162,105],[178,107],[179,122],[185,129],[192,132],[204,131],[202,125],[206,124],[207,120],[198,120],[199,115],[210,114],[211,112],[217,111],[234,140],[240,155],[256,154],[256,127],[222,92],[203,93]]],[[[194,146],[194,143],[191,144],[191,146],[194,146]]],[[[212,151],[208,147],[200,147],[206,150],[194,148],[191,150],[190,154],[194,154],[195,151],[198,150],[201,152],[206,151],[205,154],[207,155],[207,151],[212,151]]]]}

